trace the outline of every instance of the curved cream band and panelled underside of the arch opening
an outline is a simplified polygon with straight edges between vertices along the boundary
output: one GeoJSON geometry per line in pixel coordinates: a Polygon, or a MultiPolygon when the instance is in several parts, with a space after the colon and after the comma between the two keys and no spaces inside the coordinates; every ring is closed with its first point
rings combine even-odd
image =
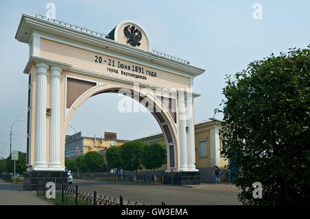
{"type": "MultiPolygon", "coordinates": [[[[155,93],[155,92],[154,92],[155,93]]],[[[165,138],[165,145],[167,149],[167,170],[175,169],[178,165],[178,136],[176,132],[176,112],[169,112],[169,100],[170,105],[172,105],[172,98],[156,96],[150,93],[143,93],[137,90],[134,90],[132,86],[116,86],[116,85],[99,85],[94,86],[84,92],[81,96],[76,98],[74,103],[68,109],[67,115],[65,117],[65,124],[62,131],[63,136],[63,150],[65,149],[65,134],[69,127],[70,121],[74,112],[85,103],[89,98],[97,96],[99,94],[123,94],[123,96],[130,97],[134,101],[137,101],[139,105],[142,105],[145,110],[148,110],[152,116],[154,116],[155,121],[158,123],[163,132],[165,138]],[[167,104],[165,103],[167,101],[167,104]],[[167,107],[168,105],[168,107],[167,107]],[[168,109],[167,109],[168,108],[168,109]]],[[[176,104],[176,103],[174,103],[176,104]]],[[[171,111],[171,110],[170,110],[171,111]]],[[[133,125],[136,128],[136,124],[133,125]]],[[[65,152],[63,151],[64,154],[65,152]]]]}

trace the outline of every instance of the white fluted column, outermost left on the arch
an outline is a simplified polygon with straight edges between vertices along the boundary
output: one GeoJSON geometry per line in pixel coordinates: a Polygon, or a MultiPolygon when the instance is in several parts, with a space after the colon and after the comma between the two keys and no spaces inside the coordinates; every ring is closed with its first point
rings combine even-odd
{"type": "Polygon", "coordinates": [[[45,170],[46,166],[46,92],[49,66],[45,63],[36,64],[37,100],[36,100],[36,149],[34,170],[45,170]]]}

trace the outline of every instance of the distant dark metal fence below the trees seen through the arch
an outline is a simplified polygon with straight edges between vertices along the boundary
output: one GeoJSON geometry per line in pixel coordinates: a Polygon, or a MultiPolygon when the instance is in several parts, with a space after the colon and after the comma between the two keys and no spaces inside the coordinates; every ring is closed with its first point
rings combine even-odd
{"type": "Polygon", "coordinates": [[[101,172],[101,173],[74,173],[72,174],[74,178],[105,178],[107,180],[123,180],[123,181],[141,181],[145,183],[163,183],[163,175],[155,174],[138,174],[135,179],[135,175],[130,173],[121,174],[112,174],[110,172],[101,172]]]}

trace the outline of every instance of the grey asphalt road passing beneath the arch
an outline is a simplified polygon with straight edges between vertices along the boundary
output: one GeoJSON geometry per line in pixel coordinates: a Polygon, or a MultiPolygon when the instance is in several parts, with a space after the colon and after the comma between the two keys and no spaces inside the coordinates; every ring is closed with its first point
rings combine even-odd
{"type": "Polygon", "coordinates": [[[79,190],[100,195],[111,196],[119,201],[123,196],[127,201],[138,202],[139,205],[242,205],[238,201],[238,189],[230,183],[205,184],[194,187],[171,185],[154,185],[147,183],[133,183],[108,180],[74,179],[79,190]]]}

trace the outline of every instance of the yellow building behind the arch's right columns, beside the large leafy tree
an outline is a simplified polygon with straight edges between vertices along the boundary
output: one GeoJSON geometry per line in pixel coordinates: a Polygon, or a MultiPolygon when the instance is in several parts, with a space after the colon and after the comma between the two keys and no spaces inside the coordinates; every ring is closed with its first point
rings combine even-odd
{"type": "MultiPolygon", "coordinates": [[[[221,141],[218,134],[221,121],[216,119],[207,119],[195,123],[195,165],[196,168],[204,167],[225,167],[228,165],[228,159],[221,155],[221,141]]],[[[165,139],[162,133],[152,134],[143,138],[138,138],[147,144],[161,143],[165,145],[165,139]]],[[[167,164],[157,170],[167,169],[167,164]]]]}

